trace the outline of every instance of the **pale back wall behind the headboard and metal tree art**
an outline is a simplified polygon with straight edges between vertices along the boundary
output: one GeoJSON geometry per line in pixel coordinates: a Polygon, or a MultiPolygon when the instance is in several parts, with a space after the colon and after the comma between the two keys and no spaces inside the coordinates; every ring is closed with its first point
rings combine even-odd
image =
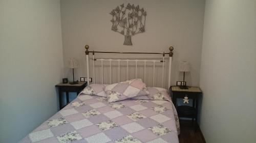
{"type": "MultiPolygon", "coordinates": [[[[174,46],[172,84],[181,80],[179,62],[188,61],[191,72],[186,75],[186,80],[189,85],[199,85],[204,5],[204,0],[62,0],[60,8],[64,65],[67,65],[69,58],[78,59],[81,67],[75,70],[76,79],[86,77],[83,48],[86,44],[90,46],[90,50],[133,52],[168,52],[168,47],[174,46]],[[112,16],[109,13],[123,3],[125,6],[127,3],[139,5],[147,12],[146,32],[132,37],[133,46],[123,45],[124,36],[111,30],[112,16]]],[[[108,72],[107,69],[104,71],[108,72]]],[[[71,70],[65,69],[65,76],[69,76],[70,80],[71,75],[71,70]]],[[[143,78],[143,74],[141,75],[143,78]]],[[[147,81],[149,80],[152,80],[151,76],[148,76],[147,81]]]]}

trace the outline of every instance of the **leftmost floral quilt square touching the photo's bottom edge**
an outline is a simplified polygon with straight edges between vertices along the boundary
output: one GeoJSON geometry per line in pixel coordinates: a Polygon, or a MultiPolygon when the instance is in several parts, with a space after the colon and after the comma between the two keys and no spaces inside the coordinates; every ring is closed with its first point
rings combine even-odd
{"type": "Polygon", "coordinates": [[[68,132],[66,134],[62,134],[57,136],[57,139],[59,140],[60,143],[68,143],[71,141],[79,140],[82,139],[82,137],[76,132],[68,132]]]}

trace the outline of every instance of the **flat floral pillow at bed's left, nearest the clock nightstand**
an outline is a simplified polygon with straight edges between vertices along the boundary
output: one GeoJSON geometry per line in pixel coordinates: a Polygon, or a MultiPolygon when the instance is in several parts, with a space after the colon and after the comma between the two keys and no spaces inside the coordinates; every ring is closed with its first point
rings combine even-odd
{"type": "Polygon", "coordinates": [[[105,84],[90,84],[84,88],[80,94],[106,97],[106,93],[104,91],[105,87],[105,84]]]}

